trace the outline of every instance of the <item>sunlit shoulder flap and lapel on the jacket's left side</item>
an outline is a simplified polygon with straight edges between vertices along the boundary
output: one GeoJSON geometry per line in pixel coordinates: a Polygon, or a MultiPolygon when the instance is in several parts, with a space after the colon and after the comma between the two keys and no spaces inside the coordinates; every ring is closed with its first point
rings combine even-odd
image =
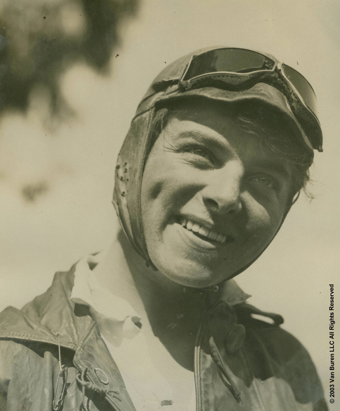
{"type": "MultiPolygon", "coordinates": [[[[46,293],[18,310],[0,314],[0,339],[36,341],[74,351],[73,363],[83,375],[84,387],[103,393],[117,411],[135,411],[123,378],[95,321],[70,300],[74,269],[57,272],[46,293]]],[[[61,358],[62,361],[62,358],[61,358]]],[[[87,391],[88,394],[88,391],[87,391]]]]}

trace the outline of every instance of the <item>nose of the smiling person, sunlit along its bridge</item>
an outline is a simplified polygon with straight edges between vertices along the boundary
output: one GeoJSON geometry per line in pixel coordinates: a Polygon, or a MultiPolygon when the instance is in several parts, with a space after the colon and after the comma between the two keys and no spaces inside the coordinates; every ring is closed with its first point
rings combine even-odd
{"type": "Polygon", "coordinates": [[[241,211],[243,173],[243,165],[237,160],[211,172],[208,183],[201,192],[204,205],[210,212],[237,214],[241,211]]]}

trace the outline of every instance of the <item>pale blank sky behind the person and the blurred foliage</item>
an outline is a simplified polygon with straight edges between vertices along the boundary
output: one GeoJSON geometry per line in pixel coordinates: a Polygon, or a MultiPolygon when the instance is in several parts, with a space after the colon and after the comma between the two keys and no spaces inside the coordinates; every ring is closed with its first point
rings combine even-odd
{"type": "MultiPolygon", "coordinates": [[[[335,284],[336,319],[340,313],[339,22],[338,0],[144,0],[137,18],[121,25],[110,75],[78,64],[60,79],[75,118],[51,127],[44,90],[32,95],[27,115],[8,113],[0,124],[0,311],[20,308],[55,271],[109,247],[116,156],[165,62],[211,45],[261,50],[312,84],[324,153],[315,153],[312,167],[315,199],[301,195],[266,252],[236,280],[250,303],[284,316],[327,390],[328,284],[335,284]],[[29,203],[21,191],[32,182],[49,190],[29,203]]],[[[336,328],[339,351],[340,322],[336,328]]]]}

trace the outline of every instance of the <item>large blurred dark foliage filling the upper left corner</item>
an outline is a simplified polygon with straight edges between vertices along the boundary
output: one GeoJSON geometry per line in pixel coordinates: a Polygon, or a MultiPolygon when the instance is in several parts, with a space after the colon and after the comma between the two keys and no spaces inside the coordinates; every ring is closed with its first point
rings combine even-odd
{"type": "Polygon", "coordinates": [[[25,111],[36,86],[49,91],[52,113],[65,109],[60,74],[77,61],[105,73],[119,44],[119,23],[139,0],[2,0],[0,111],[25,111]]]}

